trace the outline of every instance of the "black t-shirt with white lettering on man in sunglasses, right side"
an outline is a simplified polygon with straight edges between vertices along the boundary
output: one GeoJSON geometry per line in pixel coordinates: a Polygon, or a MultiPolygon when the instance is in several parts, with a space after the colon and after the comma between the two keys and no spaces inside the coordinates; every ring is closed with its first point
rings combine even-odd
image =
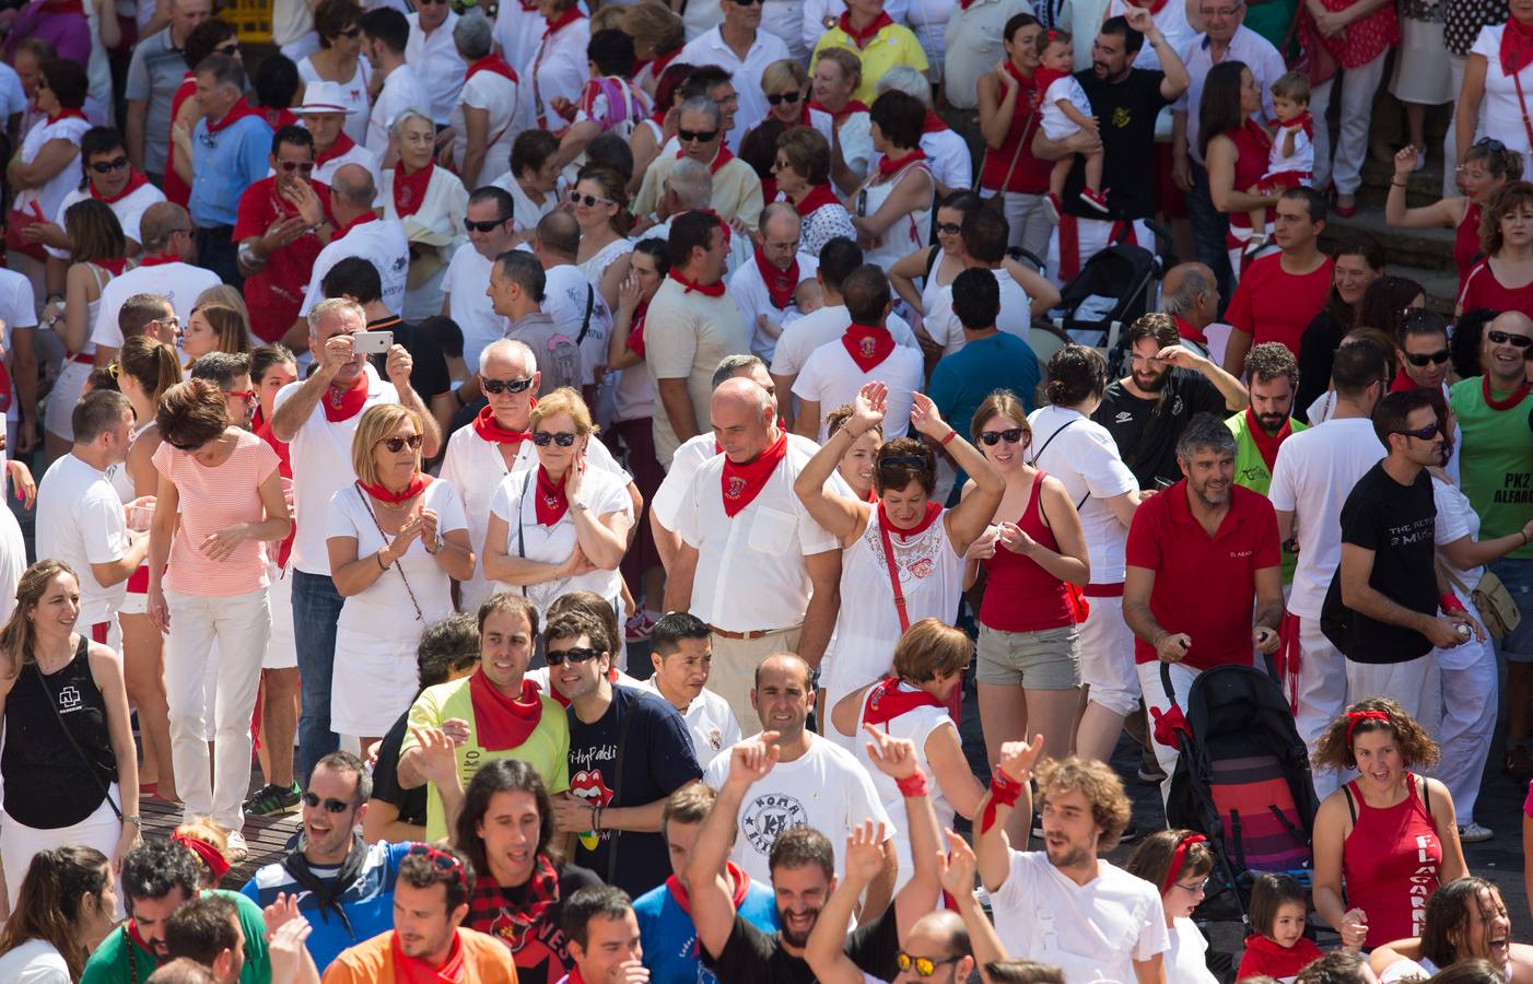
{"type": "MultiPolygon", "coordinates": [[[[1341,543],[1374,552],[1369,587],[1395,604],[1436,615],[1436,573],[1432,567],[1436,504],[1426,469],[1403,486],[1380,461],[1358,478],[1341,506],[1341,543]]],[[[1352,662],[1397,664],[1426,656],[1432,642],[1420,631],[1387,625],[1341,604],[1337,567],[1320,612],[1320,627],[1352,662]]]]}

